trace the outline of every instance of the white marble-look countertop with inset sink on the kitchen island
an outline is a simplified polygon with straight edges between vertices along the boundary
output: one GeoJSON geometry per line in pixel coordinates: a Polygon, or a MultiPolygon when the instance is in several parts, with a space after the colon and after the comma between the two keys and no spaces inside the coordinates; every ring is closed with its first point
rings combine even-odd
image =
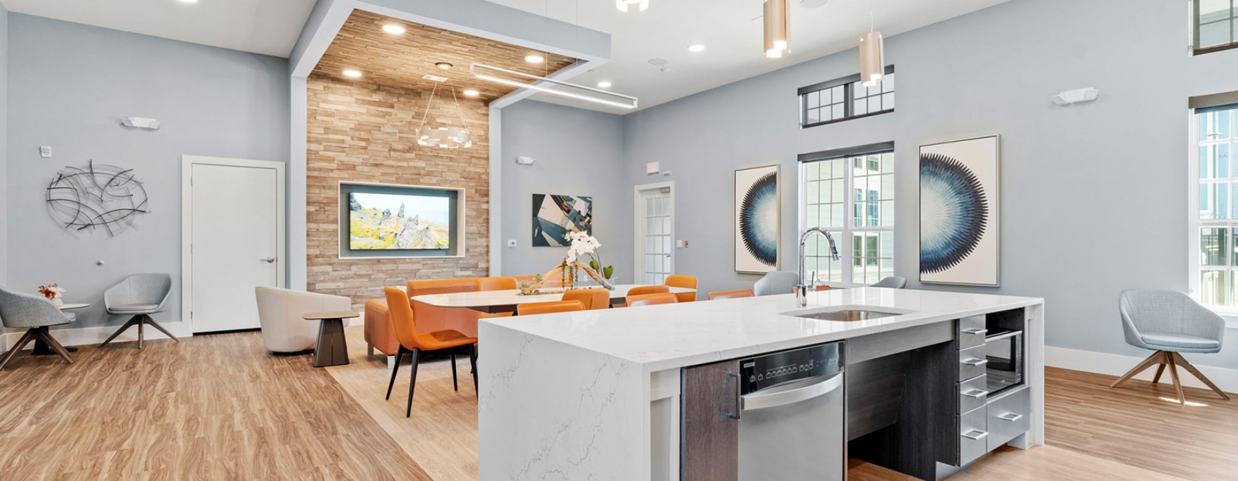
{"type": "MultiPolygon", "coordinates": [[[[817,343],[1036,305],[1044,299],[921,289],[855,288],[808,294],[808,307],[878,307],[907,314],[860,321],[796,318],[795,296],[483,319],[537,338],[619,357],[655,372],[817,343]]],[[[485,338],[480,340],[485,349],[485,338]]]]}

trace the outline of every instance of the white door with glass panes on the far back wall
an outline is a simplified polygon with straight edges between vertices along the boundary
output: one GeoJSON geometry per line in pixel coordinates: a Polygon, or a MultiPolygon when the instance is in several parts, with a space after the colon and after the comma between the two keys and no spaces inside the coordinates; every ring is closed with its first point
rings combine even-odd
{"type": "Polygon", "coordinates": [[[636,225],[634,231],[638,284],[661,284],[675,273],[675,194],[673,183],[636,187],[636,225]]]}

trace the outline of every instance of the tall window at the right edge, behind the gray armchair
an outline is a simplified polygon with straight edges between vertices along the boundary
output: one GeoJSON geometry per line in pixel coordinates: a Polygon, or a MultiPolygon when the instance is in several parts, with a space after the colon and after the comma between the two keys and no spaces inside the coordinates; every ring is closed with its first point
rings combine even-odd
{"type": "Polygon", "coordinates": [[[1238,312],[1238,216],[1234,215],[1232,152],[1238,147],[1234,121],[1238,105],[1196,109],[1192,122],[1195,155],[1191,173],[1191,283],[1200,303],[1238,312]]]}

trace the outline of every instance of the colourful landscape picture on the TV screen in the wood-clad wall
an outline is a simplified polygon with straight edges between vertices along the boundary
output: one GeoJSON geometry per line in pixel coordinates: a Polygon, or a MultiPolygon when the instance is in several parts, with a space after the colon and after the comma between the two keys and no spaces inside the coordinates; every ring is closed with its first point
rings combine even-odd
{"type": "Polygon", "coordinates": [[[413,194],[348,194],[348,249],[451,249],[451,202],[413,194]]]}

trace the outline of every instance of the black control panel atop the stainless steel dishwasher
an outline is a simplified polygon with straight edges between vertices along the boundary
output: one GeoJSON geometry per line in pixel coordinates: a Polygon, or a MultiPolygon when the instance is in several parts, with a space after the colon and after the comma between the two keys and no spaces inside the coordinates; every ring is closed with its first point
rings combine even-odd
{"type": "Polygon", "coordinates": [[[766,354],[739,361],[740,394],[842,371],[842,343],[766,354]]]}

